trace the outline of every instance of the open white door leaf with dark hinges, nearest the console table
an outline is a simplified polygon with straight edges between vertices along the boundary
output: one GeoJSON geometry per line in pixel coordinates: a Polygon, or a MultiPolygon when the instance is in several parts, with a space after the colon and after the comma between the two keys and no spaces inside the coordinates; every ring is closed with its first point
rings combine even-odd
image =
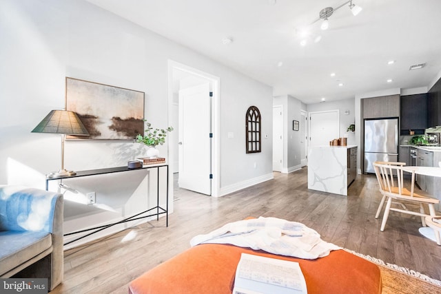
{"type": "Polygon", "coordinates": [[[179,187],[211,195],[211,97],[205,83],[179,91],[179,187]]]}

